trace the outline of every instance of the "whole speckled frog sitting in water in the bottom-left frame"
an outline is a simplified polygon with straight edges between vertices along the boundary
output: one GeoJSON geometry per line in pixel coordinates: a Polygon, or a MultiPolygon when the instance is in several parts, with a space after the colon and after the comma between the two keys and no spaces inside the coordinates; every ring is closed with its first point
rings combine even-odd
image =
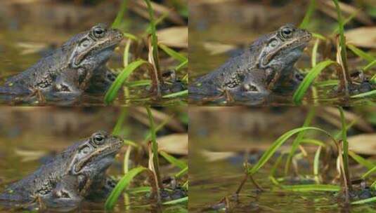
{"type": "Polygon", "coordinates": [[[105,176],[122,139],[96,132],[68,147],[28,177],[15,182],[0,194],[0,204],[24,208],[74,208],[89,195],[106,195],[115,182],[105,176]]]}

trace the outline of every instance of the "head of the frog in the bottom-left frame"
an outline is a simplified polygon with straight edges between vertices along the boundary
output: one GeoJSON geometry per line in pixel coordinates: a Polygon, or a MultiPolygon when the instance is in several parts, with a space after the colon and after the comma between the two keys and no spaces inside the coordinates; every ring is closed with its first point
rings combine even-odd
{"type": "Polygon", "coordinates": [[[68,165],[68,173],[86,176],[105,172],[123,144],[122,139],[107,132],[95,132],[89,139],[78,144],[68,165]]]}

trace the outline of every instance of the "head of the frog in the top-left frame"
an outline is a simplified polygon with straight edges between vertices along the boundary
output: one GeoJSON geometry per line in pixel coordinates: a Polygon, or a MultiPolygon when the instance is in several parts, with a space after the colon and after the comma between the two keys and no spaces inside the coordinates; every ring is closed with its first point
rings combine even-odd
{"type": "Polygon", "coordinates": [[[68,41],[72,43],[69,65],[71,68],[91,67],[94,69],[105,63],[115,47],[122,41],[123,34],[117,29],[109,29],[103,24],[95,25],[68,41]],[[72,42],[72,40],[74,42],[72,42]]]}

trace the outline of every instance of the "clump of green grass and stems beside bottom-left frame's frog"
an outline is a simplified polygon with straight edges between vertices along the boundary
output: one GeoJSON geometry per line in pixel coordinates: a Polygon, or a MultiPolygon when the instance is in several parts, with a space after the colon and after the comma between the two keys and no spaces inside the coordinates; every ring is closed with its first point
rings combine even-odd
{"type": "MultiPolygon", "coordinates": [[[[150,132],[148,135],[145,136],[145,140],[148,141],[146,145],[146,149],[148,151],[148,167],[143,167],[142,165],[138,165],[134,168],[129,168],[129,160],[131,156],[131,151],[135,149],[136,151],[143,150],[142,143],[135,143],[124,140],[124,143],[128,145],[128,149],[124,155],[124,176],[119,180],[117,185],[115,186],[114,190],[110,193],[108,199],[105,202],[105,209],[111,210],[115,207],[119,196],[122,195],[124,191],[124,195],[129,193],[151,193],[150,197],[154,199],[151,200],[150,206],[157,207],[158,209],[162,205],[176,205],[179,203],[186,203],[188,201],[188,196],[183,198],[177,198],[175,200],[169,200],[167,202],[162,202],[161,193],[164,190],[169,190],[169,188],[164,188],[162,184],[161,174],[160,174],[160,161],[159,157],[162,156],[167,162],[171,163],[175,167],[178,167],[180,171],[174,175],[176,179],[181,179],[183,175],[188,173],[188,164],[183,160],[179,160],[174,158],[174,156],[169,155],[164,151],[158,150],[157,144],[157,137],[156,133],[157,130],[163,127],[166,123],[162,123],[162,125],[155,126],[153,114],[149,107],[145,107],[146,112],[148,114],[148,120],[150,125],[150,132]],[[139,174],[146,173],[149,179],[150,187],[141,186],[138,188],[129,188],[129,184],[133,181],[139,174]]],[[[120,130],[122,129],[122,123],[124,118],[127,117],[127,108],[122,109],[122,112],[115,124],[113,134],[119,134],[120,130]]],[[[183,184],[183,187],[188,190],[188,182],[183,184]]]]}

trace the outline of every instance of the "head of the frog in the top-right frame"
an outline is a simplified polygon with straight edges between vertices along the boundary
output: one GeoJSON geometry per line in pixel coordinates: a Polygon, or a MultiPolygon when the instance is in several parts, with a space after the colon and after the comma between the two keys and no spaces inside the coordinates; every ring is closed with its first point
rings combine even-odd
{"type": "Polygon", "coordinates": [[[251,50],[257,52],[256,64],[260,69],[289,67],[297,62],[311,38],[312,34],[305,29],[287,24],[252,44],[251,50]]]}

